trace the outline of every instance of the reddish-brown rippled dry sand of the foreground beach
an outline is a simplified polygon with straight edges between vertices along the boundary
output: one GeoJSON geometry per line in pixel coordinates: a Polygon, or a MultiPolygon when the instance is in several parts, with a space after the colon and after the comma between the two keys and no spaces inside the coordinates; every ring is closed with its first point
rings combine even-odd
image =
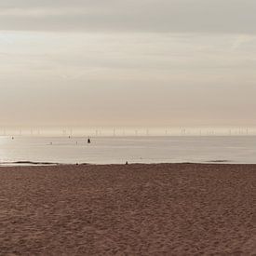
{"type": "Polygon", "coordinates": [[[0,168],[1,255],[256,255],[256,166],[0,168]]]}

